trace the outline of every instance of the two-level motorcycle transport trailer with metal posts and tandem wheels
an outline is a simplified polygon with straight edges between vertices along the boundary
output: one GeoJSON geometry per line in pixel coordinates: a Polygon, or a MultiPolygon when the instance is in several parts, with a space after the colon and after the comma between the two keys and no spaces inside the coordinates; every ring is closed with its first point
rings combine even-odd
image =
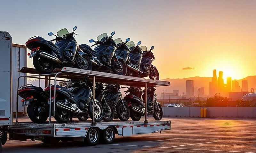
{"type": "MultiPolygon", "coordinates": [[[[62,69],[56,70],[52,74],[38,75],[38,72],[32,68],[23,67],[20,72],[34,74],[31,76],[20,76],[17,80],[17,87],[19,87],[20,78],[30,77],[36,79],[45,79],[45,85],[51,85],[51,88],[54,88],[54,92],[50,96],[56,96],[56,82],[63,81],[59,78],[64,79],[80,79],[83,80],[85,77],[92,81],[93,83],[93,98],[95,98],[95,83],[107,83],[107,84],[119,84],[127,86],[136,86],[136,87],[149,87],[149,86],[166,86],[170,85],[170,82],[167,81],[157,81],[150,80],[145,78],[138,77],[129,77],[122,76],[117,74],[97,72],[84,69],[76,69],[70,67],[64,67],[62,69]],[[52,79],[52,78],[54,79],[52,79]],[[58,79],[57,79],[58,78],[58,79]],[[54,84],[51,84],[51,80],[54,81],[54,84]]],[[[18,89],[17,89],[18,91],[18,89]]],[[[147,90],[145,90],[147,94],[147,90]]],[[[18,95],[17,95],[18,96],[18,95]]],[[[18,99],[18,97],[17,97],[18,99]]],[[[16,101],[19,103],[19,101],[16,101]]],[[[53,115],[55,112],[55,98],[54,98],[54,108],[53,115]]],[[[145,106],[147,106],[147,98],[145,98],[145,106]]],[[[18,105],[17,105],[18,106],[18,105]]],[[[51,105],[50,105],[51,106],[51,105]]],[[[0,108],[2,109],[2,108],[0,108]]],[[[16,108],[17,112],[18,107],[16,108]]],[[[147,109],[147,108],[145,108],[147,109]]],[[[50,108],[51,110],[51,108],[50,108]]],[[[140,134],[149,134],[153,132],[162,131],[165,129],[171,128],[170,120],[148,120],[147,111],[145,111],[144,120],[142,121],[120,121],[113,120],[110,122],[95,122],[94,115],[92,115],[92,121],[84,122],[74,122],[70,121],[68,123],[57,123],[51,121],[49,118],[49,123],[36,124],[32,122],[19,122],[18,116],[16,116],[16,121],[13,123],[12,119],[10,121],[10,126],[1,127],[3,135],[6,135],[6,132],[9,133],[10,140],[20,140],[26,141],[27,139],[31,140],[42,140],[44,143],[58,142],[60,140],[65,141],[84,141],[87,145],[96,145],[99,142],[99,138],[104,140],[105,143],[111,143],[114,141],[115,134],[122,136],[131,136],[131,135],[140,135],[140,134]]],[[[51,111],[49,111],[51,116],[51,111]]],[[[93,112],[94,113],[94,112],[93,112]]],[[[1,123],[1,120],[0,120],[1,123]]],[[[5,136],[4,136],[5,137],[5,136]]]]}

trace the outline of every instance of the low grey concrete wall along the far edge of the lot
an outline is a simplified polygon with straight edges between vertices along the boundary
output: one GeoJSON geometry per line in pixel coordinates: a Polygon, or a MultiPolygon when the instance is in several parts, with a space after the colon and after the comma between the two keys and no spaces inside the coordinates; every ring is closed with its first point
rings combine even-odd
{"type": "Polygon", "coordinates": [[[256,118],[256,107],[162,107],[164,117],[200,117],[207,108],[207,117],[256,118]]]}

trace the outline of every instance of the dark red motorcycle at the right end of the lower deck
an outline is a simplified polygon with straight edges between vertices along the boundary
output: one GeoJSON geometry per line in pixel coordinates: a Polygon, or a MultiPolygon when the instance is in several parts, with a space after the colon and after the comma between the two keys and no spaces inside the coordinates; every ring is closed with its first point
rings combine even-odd
{"type": "MultiPolygon", "coordinates": [[[[161,120],[163,117],[163,110],[161,104],[156,101],[156,93],[154,87],[147,88],[147,115],[153,115],[155,120],[161,120]]],[[[128,102],[130,107],[130,117],[134,121],[139,121],[141,115],[145,114],[145,92],[138,87],[130,87],[125,93],[124,99],[128,102]],[[142,98],[141,98],[142,96],[142,98]]]]}

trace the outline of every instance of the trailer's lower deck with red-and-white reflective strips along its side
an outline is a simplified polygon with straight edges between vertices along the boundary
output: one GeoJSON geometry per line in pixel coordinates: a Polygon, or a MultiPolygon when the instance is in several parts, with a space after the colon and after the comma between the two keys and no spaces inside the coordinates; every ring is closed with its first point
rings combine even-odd
{"type": "Polygon", "coordinates": [[[108,127],[115,129],[115,133],[120,136],[131,136],[139,134],[148,134],[171,128],[170,120],[148,120],[144,121],[120,121],[113,120],[110,122],[97,122],[96,126],[92,126],[91,121],[73,121],[68,123],[52,122],[51,124],[36,124],[32,122],[19,122],[13,124],[9,129],[13,134],[27,135],[29,137],[85,137],[89,128],[99,128],[104,130],[108,127]]]}

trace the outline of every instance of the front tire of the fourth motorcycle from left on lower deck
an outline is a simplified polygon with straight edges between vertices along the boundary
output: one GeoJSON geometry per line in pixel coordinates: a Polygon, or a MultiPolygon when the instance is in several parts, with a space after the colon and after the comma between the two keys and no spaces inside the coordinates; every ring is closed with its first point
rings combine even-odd
{"type": "Polygon", "coordinates": [[[130,118],[130,109],[128,104],[124,101],[124,106],[123,106],[122,101],[119,101],[118,104],[116,105],[116,113],[118,115],[118,118],[121,121],[128,120],[130,118]]]}

